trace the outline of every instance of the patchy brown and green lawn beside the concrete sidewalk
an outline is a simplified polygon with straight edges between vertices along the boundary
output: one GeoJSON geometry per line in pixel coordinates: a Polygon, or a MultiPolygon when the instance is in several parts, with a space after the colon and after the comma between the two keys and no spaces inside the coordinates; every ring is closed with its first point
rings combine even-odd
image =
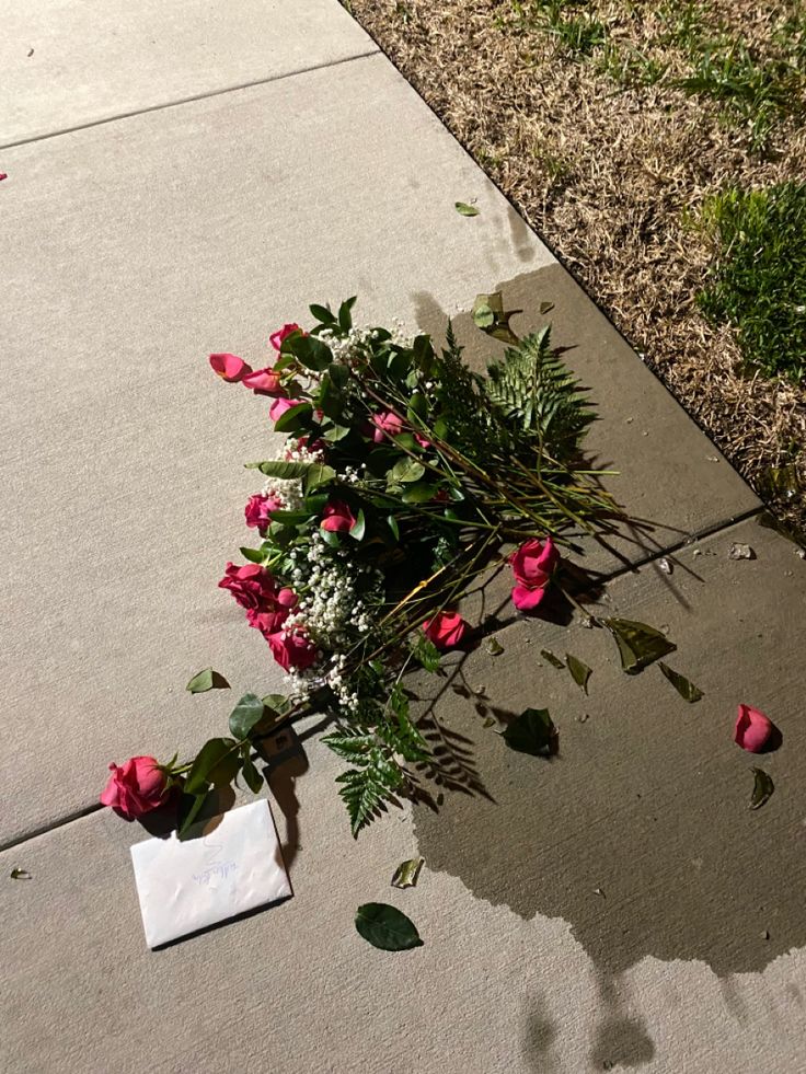
{"type": "Polygon", "coordinates": [[[343,2],[806,532],[806,2],[343,2]]]}

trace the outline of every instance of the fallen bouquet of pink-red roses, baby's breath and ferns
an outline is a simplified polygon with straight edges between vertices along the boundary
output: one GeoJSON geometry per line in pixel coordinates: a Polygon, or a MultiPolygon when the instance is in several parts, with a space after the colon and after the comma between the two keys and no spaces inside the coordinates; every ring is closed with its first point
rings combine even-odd
{"type": "MultiPolygon", "coordinates": [[[[332,718],[324,741],[348,765],[337,782],[354,834],[415,794],[436,762],[405,672],[437,672],[444,650],[472,644],[459,605],[491,568],[509,563],[511,600],[532,613],[557,584],[561,550],[618,513],[582,461],[595,415],[550,328],[518,339],[496,299],[474,310],[480,327],[510,343],[486,377],[463,362],[450,323],[441,348],[427,335],[356,328],[355,299],[335,312],[312,305],[310,332],[285,325],[266,368],[210,356],[224,381],[270,400],[286,435],[279,458],[246,463],[262,478],[245,509],[258,541],[220,586],[265,637],[287,689],[245,694],[230,736],[192,762],[145,766],[146,782],[159,772],[163,790],[180,787],[181,831],[239,774],[256,792],[261,740],[311,713],[332,718]]],[[[188,688],[207,689],[214,675],[188,688]]],[[[126,811],[124,797],[112,804],[126,811]]]]}

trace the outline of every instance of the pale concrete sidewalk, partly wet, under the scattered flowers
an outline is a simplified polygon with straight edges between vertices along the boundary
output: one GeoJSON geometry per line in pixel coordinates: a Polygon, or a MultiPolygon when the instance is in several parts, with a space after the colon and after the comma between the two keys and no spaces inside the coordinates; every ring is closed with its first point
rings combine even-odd
{"type": "MultiPolygon", "coordinates": [[[[806,565],[752,493],[336,0],[0,15],[0,875],[33,877],[2,881],[3,1069],[805,1069],[806,565]],[[460,217],[471,198],[480,216],[460,217]],[[357,293],[358,320],[414,331],[499,285],[520,331],[554,303],[599,403],[591,446],[643,522],[589,550],[608,607],[668,625],[705,698],[617,673],[601,632],[514,623],[500,657],[457,673],[493,706],[550,707],[561,759],[511,754],[449,693],[441,718],[495,801],[448,796],[355,844],[338,762],[307,738],[269,781],[295,898],[148,951],[127,851],[145,833],[81,813],[110,760],[222,726],[226,700],[184,692],[198,668],[277,683],[216,589],[244,540],[240,463],[267,450],[261,404],[205,355],[260,365],[312,301],[357,293]],[[758,558],[728,561],[733,540],[758,558]],[[597,669],[589,704],[543,646],[597,669]],[[784,732],[758,812],[738,701],[784,732]],[[416,853],[419,886],[390,889],[416,853]],[[364,944],[369,900],[425,947],[364,944]]],[[[458,323],[472,359],[487,339],[458,323]]]]}

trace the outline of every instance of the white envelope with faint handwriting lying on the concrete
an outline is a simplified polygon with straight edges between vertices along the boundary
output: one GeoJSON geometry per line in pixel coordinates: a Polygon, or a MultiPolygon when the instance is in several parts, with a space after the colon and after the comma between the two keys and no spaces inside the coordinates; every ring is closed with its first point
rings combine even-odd
{"type": "Polygon", "coordinates": [[[265,799],[194,829],[198,838],[180,841],[172,832],[131,847],[149,947],[292,893],[265,799]]]}

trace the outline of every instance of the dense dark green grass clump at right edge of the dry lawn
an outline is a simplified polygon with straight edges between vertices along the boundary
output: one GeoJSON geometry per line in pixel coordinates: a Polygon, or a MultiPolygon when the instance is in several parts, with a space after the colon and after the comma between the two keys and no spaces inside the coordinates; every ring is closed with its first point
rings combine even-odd
{"type": "Polygon", "coordinates": [[[806,377],[806,183],[711,197],[703,221],[717,253],[698,296],[703,312],[737,330],[749,366],[806,377]]]}

